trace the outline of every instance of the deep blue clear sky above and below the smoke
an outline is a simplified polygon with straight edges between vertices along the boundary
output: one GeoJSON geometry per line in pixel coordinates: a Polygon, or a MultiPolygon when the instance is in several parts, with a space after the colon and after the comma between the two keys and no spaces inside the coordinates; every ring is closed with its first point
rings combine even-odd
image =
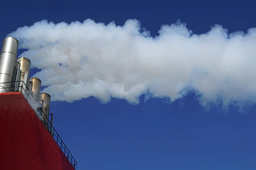
{"type": "MultiPolygon", "coordinates": [[[[254,7],[194,1],[4,2],[0,38],[42,19],[70,23],[91,18],[123,25],[136,18],[153,36],[161,25],[178,19],[197,34],[215,24],[229,32],[247,31],[256,27],[254,7]]],[[[193,94],[172,104],[165,99],[144,102],[142,96],[139,105],[121,99],[102,105],[91,97],[52,102],[50,108],[79,170],[255,170],[255,110],[253,105],[245,113],[232,107],[228,113],[218,108],[205,112],[193,94]]]]}

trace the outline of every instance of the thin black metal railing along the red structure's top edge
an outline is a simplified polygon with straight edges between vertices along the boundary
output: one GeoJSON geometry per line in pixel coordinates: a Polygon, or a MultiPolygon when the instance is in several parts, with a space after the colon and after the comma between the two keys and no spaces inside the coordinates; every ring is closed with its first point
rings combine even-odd
{"type": "Polygon", "coordinates": [[[15,82],[3,82],[0,83],[0,93],[6,93],[6,92],[21,92],[29,105],[33,108],[36,115],[38,115],[41,122],[43,122],[44,126],[47,128],[49,133],[52,135],[55,142],[58,144],[58,146],[61,148],[64,155],[67,157],[67,159],[70,161],[74,169],[76,169],[77,162],[70,153],[70,151],[67,149],[66,145],[62,141],[61,137],[58,135],[55,128],[52,126],[51,121],[47,118],[42,108],[38,107],[38,102],[35,97],[32,95],[32,93],[29,91],[28,87],[23,81],[15,81],[15,82]]]}

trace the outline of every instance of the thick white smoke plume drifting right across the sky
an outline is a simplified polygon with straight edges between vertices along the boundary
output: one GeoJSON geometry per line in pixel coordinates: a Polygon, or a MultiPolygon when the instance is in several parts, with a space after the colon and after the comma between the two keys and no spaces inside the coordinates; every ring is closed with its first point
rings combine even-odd
{"type": "Polygon", "coordinates": [[[152,37],[138,20],[115,23],[48,23],[18,28],[21,54],[41,69],[34,77],[52,101],[94,96],[137,104],[139,97],[170,101],[194,91],[202,105],[256,102],[256,28],[228,34],[213,26],[193,34],[186,24],[164,25],[152,37]]]}

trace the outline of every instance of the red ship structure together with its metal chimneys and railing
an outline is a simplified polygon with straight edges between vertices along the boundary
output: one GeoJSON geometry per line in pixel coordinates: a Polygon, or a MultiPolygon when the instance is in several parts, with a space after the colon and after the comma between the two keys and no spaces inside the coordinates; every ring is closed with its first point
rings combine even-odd
{"type": "Polygon", "coordinates": [[[0,53],[0,170],[74,170],[76,160],[52,126],[51,96],[29,78],[30,60],[16,58],[18,44],[6,37],[0,53]]]}

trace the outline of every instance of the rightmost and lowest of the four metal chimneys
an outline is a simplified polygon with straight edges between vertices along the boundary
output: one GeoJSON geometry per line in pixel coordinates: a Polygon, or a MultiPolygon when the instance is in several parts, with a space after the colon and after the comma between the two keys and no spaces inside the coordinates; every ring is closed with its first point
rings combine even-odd
{"type": "Polygon", "coordinates": [[[39,94],[39,99],[43,100],[43,107],[42,110],[44,114],[42,114],[43,121],[46,121],[47,123],[49,122],[49,110],[50,110],[50,101],[51,101],[51,96],[47,93],[41,93],[39,94]],[[47,118],[47,119],[45,119],[47,118]]]}

